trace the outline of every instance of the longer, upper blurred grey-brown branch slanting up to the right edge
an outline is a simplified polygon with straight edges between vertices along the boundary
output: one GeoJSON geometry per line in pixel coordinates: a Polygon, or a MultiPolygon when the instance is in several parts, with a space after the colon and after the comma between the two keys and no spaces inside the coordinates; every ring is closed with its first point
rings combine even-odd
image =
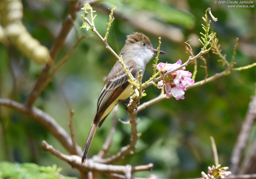
{"type": "Polygon", "coordinates": [[[230,171],[234,174],[239,171],[239,162],[241,160],[241,156],[243,154],[244,148],[246,147],[247,139],[249,137],[249,132],[253,126],[254,120],[256,118],[256,89],[255,95],[251,98],[249,103],[249,108],[246,113],[245,120],[241,127],[241,131],[238,135],[237,142],[233,149],[231,155],[231,167],[230,171]]]}

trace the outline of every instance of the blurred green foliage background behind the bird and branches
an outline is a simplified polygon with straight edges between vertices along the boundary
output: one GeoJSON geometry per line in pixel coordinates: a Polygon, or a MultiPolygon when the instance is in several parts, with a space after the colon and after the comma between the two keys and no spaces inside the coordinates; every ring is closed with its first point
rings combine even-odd
{"type": "MultiPolygon", "coordinates": [[[[69,1],[24,0],[22,4],[22,23],[34,38],[50,48],[69,12],[69,1]]],[[[235,38],[238,37],[236,66],[256,61],[255,8],[228,8],[228,4],[215,4],[209,0],[109,0],[91,1],[91,5],[97,14],[94,19],[95,27],[103,37],[109,21],[108,8],[117,6],[108,37],[109,45],[117,53],[122,49],[126,35],[140,31],[150,38],[155,48],[158,46],[158,37],[161,36],[161,50],[166,54],[159,56],[159,62],[175,63],[179,59],[185,62],[190,54],[186,53],[184,41],[192,39],[189,43],[194,53],[200,52],[201,44],[198,39],[199,33],[203,32],[202,16],[210,7],[212,14],[218,18],[217,22],[211,22],[210,31],[217,33],[222,53],[227,54],[227,60],[230,61],[232,57],[235,38]]],[[[79,10],[74,25],[79,35],[87,34],[92,37],[80,42],[73,55],[62,65],[37,99],[35,106],[54,117],[68,132],[69,111],[70,108],[74,109],[75,139],[83,148],[104,78],[116,59],[92,31],[79,29],[84,22],[81,14],[83,11],[79,10]]],[[[208,17],[210,19],[209,15],[208,17]]],[[[72,28],[55,61],[58,62],[75,42],[76,31],[72,28]]],[[[217,62],[219,57],[211,51],[203,56],[207,61],[209,76],[225,69],[222,63],[217,62]]],[[[146,67],[143,81],[152,75],[152,63],[153,59],[146,67]]],[[[196,81],[204,79],[205,76],[205,70],[200,65],[204,63],[198,59],[196,81]]],[[[193,72],[193,68],[191,64],[186,67],[190,72],[193,72]]],[[[41,65],[26,58],[14,47],[5,47],[1,43],[0,97],[24,103],[41,69],[41,65]]],[[[148,177],[155,174],[162,178],[200,177],[201,171],[207,171],[207,166],[214,164],[209,140],[209,136],[213,136],[220,163],[228,166],[250,96],[254,95],[255,76],[255,68],[232,71],[230,75],[188,90],[185,100],[170,98],[141,111],[138,113],[141,119],[138,132],[142,136],[137,142],[135,153],[118,164],[134,166],[154,163],[153,171],[140,172],[135,176],[148,177]]],[[[150,86],[146,93],[147,96],[141,99],[141,103],[156,97],[160,90],[150,86]]],[[[127,120],[125,106],[119,106],[118,118],[127,120]]],[[[89,157],[101,149],[111,127],[111,118],[112,113],[97,130],[89,157]]],[[[130,133],[129,125],[118,122],[110,154],[118,152],[129,143],[130,133]]],[[[250,149],[255,136],[254,124],[246,151],[250,149]]],[[[79,173],[69,164],[42,150],[42,140],[46,140],[61,152],[68,153],[44,127],[30,120],[28,116],[0,107],[1,161],[34,162],[45,166],[57,164],[63,168],[61,174],[79,177],[79,173]]]]}

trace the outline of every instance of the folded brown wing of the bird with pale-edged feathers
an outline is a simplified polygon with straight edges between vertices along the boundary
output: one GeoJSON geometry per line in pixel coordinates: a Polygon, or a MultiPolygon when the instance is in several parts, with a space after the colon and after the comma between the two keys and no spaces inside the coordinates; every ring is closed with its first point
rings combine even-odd
{"type": "MultiPolygon", "coordinates": [[[[126,63],[126,65],[130,69],[132,75],[135,76],[137,71],[136,62],[133,60],[130,60],[126,63]]],[[[98,120],[100,119],[101,115],[104,113],[106,108],[108,108],[108,106],[111,103],[113,103],[116,100],[116,98],[129,85],[129,82],[127,82],[128,79],[129,77],[127,76],[123,66],[120,64],[120,62],[117,61],[113,66],[112,70],[110,71],[103,85],[103,88],[101,90],[100,97],[98,99],[98,104],[97,104],[97,112],[94,117],[94,123],[98,122],[98,120]]]]}

